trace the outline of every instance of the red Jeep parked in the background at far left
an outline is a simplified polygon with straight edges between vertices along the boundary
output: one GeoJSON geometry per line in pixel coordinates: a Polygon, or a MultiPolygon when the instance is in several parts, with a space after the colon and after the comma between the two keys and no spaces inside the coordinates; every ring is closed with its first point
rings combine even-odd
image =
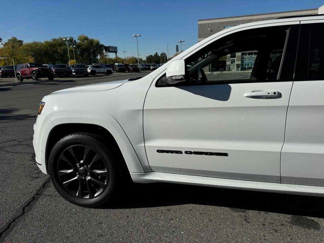
{"type": "Polygon", "coordinates": [[[22,63],[16,65],[16,76],[19,82],[23,82],[24,78],[33,80],[47,77],[49,80],[54,79],[54,74],[49,68],[43,67],[39,63],[22,63]]]}

